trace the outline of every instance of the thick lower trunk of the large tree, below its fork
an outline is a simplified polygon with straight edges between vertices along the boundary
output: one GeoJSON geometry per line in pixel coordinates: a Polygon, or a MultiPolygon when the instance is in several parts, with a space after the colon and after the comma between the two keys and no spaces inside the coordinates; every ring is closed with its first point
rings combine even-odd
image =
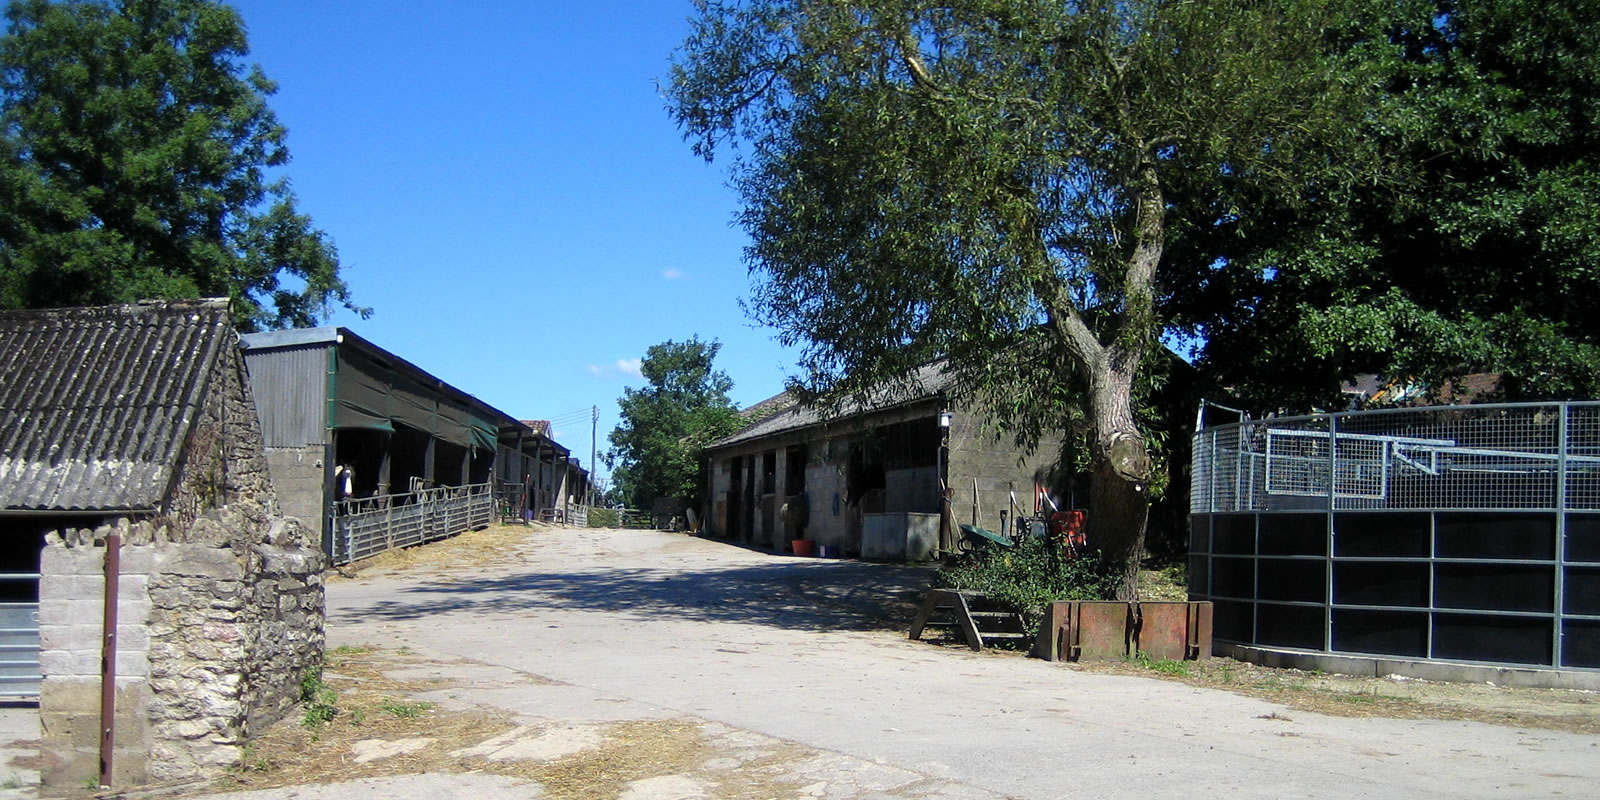
{"type": "Polygon", "coordinates": [[[1110,563],[1123,565],[1117,600],[1138,600],[1144,528],[1150,515],[1150,453],[1133,419],[1133,374],[1098,365],[1090,379],[1090,443],[1093,467],[1088,509],[1088,544],[1110,563]]]}

